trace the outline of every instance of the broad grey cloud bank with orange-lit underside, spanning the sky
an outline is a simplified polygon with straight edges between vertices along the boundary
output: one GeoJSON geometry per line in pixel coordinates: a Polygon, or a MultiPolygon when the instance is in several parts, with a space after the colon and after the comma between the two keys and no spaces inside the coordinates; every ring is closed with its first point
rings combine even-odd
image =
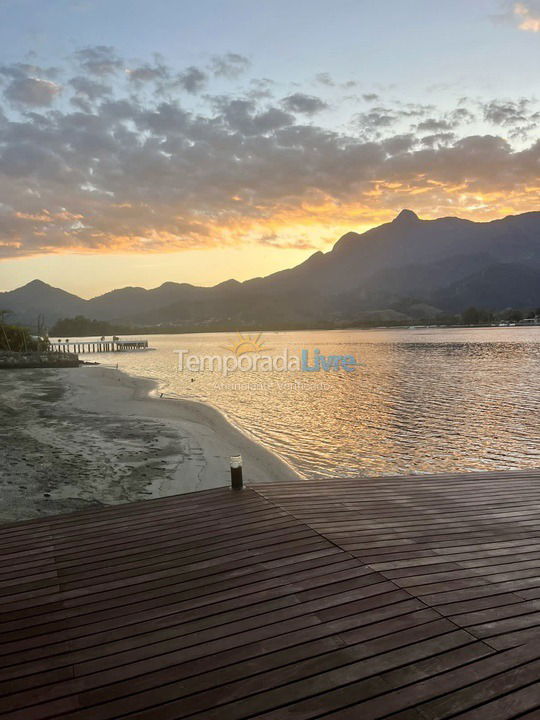
{"type": "MultiPolygon", "coordinates": [[[[471,134],[472,101],[437,111],[377,98],[338,131],[298,118],[313,96],[298,90],[281,104],[269,81],[194,100],[189,88],[212,82],[199,68],[155,60],[118,72],[128,64],[112,49],[83,62],[53,110],[25,96],[0,116],[2,257],[242,242],[307,249],[413,201],[426,217],[473,219],[537,204],[529,99],[475,104],[489,130],[471,134]]],[[[32,76],[60,87],[61,75],[34,66],[0,68],[4,89],[32,76]]]]}

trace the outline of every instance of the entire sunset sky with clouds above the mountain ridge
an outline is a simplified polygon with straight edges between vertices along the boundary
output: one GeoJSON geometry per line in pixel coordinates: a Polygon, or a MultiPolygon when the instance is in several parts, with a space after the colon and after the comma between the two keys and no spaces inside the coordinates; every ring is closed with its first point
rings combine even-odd
{"type": "Polygon", "coordinates": [[[540,0],[0,0],[0,291],[540,210],[540,0]]]}

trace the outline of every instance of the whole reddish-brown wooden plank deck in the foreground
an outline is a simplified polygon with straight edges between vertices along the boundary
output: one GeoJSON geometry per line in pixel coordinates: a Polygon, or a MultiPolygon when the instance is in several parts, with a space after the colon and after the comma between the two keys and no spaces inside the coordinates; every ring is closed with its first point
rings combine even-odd
{"type": "Polygon", "coordinates": [[[0,720],[540,718],[540,471],[0,528],[0,720]]]}

